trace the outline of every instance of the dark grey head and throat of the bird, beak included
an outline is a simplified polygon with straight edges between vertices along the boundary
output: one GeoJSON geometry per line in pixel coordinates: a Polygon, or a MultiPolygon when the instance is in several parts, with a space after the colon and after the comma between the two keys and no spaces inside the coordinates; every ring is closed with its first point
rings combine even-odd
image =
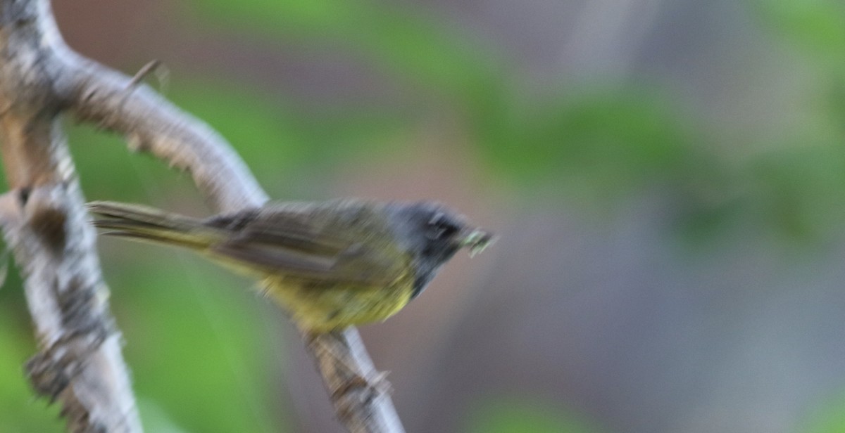
{"type": "Polygon", "coordinates": [[[417,276],[412,298],[425,289],[455,252],[466,246],[472,256],[493,243],[490,232],[468,225],[462,215],[440,203],[390,203],[388,209],[397,237],[414,257],[417,276]]]}

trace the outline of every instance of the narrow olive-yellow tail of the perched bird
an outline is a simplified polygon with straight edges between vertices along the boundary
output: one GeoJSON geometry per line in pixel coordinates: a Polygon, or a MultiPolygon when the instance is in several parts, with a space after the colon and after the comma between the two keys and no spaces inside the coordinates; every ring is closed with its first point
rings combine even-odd
{"type": "Polygon", "coordinates": [[[221,230],[204,225],[200,219],[138,204],[91,202],[88,209],[102,217],[94,219],[93,224],[107,230],[105,235],[196,250],[204,250],[224,237],[221,230]]]}

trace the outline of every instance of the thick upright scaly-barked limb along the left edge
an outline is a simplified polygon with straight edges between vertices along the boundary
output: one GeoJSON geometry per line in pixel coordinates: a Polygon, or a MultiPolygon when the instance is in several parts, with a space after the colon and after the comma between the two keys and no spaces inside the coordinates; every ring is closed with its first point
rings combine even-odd
{"type": "Polygon", "coordinates": [[[26,371],[35,392],[62,403],[68,430],[138,432],[95,233],[57,121],[57,41],[49,3],[0,2],[0,150],[13,188],[0,198],[0,224],[35,322],[39,353],[26,371]]]}

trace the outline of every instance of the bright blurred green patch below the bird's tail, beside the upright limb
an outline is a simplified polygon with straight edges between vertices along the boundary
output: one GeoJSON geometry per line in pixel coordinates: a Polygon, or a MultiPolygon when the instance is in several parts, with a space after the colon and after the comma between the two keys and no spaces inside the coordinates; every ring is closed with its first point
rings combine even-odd
{"type": "Polygon", "coordinates": [[[240,292],[243,282],[205,277],[222,272],[211,264],[131,245],[132,257],[143,263],[119,272],[112,259],[104,263],[114,276],[114,310],[128,341],[134,388],[156,408],[142,419],[166,416],[188,431],[280,430],[283,415],[266,403],[263,349],[267,338],[278,337],[262,332],[254,294],[240,292]]]}

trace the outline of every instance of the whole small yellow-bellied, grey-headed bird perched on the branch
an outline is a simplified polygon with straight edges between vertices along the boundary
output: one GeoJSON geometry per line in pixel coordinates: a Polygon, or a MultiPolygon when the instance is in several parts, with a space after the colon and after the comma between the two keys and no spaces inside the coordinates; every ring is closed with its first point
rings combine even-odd
{"type": "Polygon", "coordinates": [[[184,246],[257,277],[308,333],[384,321],[455,252],[466,246],[474,255],[493,241],[431,202],[270,203],[206,219],[127,203],[88,206],[106,235],[184,246]]]}

